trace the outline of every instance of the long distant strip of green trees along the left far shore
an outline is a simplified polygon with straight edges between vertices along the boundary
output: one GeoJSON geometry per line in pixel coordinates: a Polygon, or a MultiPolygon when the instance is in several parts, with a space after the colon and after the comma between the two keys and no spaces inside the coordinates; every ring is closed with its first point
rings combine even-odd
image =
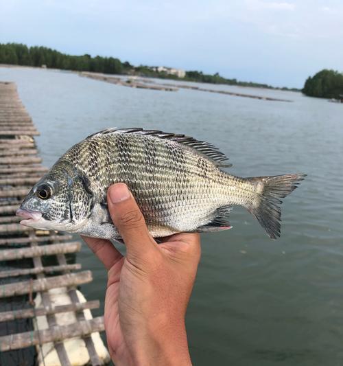
{"type": "MultiPolygon", "coordinates": [[[[156,67],[130,65],[130,62],[121,62],[119,58],[92,57],[89,54],[71,56],[62,54],[48,47],[27,47],[21,43],[0,43],[0,64],[45,67],[72,71],[93,71],[99,73],[130,74],[152,78],[168,78],[179,80],[178,76],[165,71],[156,71],[156,67]]],[[[220,76],[202,73],[202,71],[186,71],[185,81],[209,82],[211,84],[239,85],[241,87],[260,87],[269,89],[298,90],[288,88],[274,88],[268,84],[257,82],[241,82],[237,79],[228,79],[220,76]]]]}

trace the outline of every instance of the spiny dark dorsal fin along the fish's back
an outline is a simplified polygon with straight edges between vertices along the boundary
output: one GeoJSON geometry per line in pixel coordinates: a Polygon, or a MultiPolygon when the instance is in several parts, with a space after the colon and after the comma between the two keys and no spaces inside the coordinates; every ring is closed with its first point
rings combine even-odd
{"type": "Polygon", "coordinates": [[[215,146],[210,144],[209,142],[199,141],[197,139],[193,139],[193,137],[178,135],[175,133],[164,133],[158,130],[143,130],[143,128],[106,128],[106,130],[99,131],[97,133],[93,133],[93,135],[89,135],[87,139],[93,138],[99,135],[107,135],[109,133],[133,133],[135,135],[151,135],[158,137],[160,139],[169,139],[172,141],[176,141],[179,144],[183,144],[189,146],[196,150],[196,152],[204,155],[207,159],[211,160],[215,165],[220,168],[230,168],[232,164],[226,163],[228,157],[225,154],[220,152],[215,146]]]}

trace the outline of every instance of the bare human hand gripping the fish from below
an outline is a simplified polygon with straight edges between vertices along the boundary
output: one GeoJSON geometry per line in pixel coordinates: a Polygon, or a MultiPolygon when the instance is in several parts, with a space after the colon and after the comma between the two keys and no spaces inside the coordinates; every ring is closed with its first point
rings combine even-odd
{"type": "Polygon", "coordinates": [[[108,271],[104,321],[116,365],[191,365],[185,313],[200,260],[200,236],[157,244],[128,187],[108,189],[110,216],[126,256],[109,240],[84,237],[108,271]]]}

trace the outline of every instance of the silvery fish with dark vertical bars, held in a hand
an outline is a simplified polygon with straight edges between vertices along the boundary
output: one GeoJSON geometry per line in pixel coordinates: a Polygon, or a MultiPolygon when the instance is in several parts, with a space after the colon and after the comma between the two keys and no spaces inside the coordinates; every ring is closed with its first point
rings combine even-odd
{"type": "Polygon", "coordinates": [[[16,215],[36,229],[121,240],[106,192],[126,183],[152,237],[230,229],[234,205],[255,216],[271,239],[281,233],[281,198],[306,174],[243,178],[213,144],[143,128],[107,128],[65,152],[25,197],[16,215]]]}

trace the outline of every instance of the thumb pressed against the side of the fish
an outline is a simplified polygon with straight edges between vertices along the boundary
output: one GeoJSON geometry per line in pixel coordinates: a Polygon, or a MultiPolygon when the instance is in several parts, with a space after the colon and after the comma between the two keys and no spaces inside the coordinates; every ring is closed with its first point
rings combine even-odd
{"type": "Polygon", "coordinates": [[[110,216],[126,244],[129,257],[140,256],[156,248],[143,214],[126,184],[112,185],[108,189],[107,202],[110,216]]]}

